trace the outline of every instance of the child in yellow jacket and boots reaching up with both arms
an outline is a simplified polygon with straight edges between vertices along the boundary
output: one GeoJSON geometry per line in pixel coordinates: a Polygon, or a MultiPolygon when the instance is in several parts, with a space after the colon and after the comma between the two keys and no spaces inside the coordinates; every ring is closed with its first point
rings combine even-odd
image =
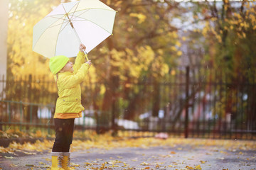
{"type": "Polygon", "coordinates": [[[74,65],[64,55],[50,58],[50,71],[55,74],[59,96],[54,113],[55,142],[51,170],[71,169],[69,151],[73,141],[74,120],[81,118],[85,110],[81,104],[80,83],[91,65],[90,60],[85,62],[85,48],[85,45],[80,44],[74,65]]]}

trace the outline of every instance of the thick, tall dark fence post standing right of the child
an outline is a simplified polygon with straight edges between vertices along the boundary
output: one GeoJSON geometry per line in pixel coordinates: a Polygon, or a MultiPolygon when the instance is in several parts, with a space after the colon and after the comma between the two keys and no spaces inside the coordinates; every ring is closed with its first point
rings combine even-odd
{"type": "Polygon", "coordinates": [[[186,117],[185,117],[185,138],[188,138],[188,95],[189,95],[189,66],[186,67],[186,117]]]}

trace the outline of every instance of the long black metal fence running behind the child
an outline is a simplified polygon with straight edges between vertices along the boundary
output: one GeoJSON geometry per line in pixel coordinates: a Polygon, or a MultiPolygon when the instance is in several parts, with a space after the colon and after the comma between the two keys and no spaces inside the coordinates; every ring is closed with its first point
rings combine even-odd
{"type": "MultiPolygon", "coordinates": [[[[106,83],[81,84],[82,118],[76,127],[97,132],[168,132],[182,137],[256,138],[255,72],[230,76],[207,67],[181,67],[159,79],[119,81],[111,109],[101,109],[106,83]]],[[[53,77],[0,79],[0,128],[53,128],[53,77]]]]}

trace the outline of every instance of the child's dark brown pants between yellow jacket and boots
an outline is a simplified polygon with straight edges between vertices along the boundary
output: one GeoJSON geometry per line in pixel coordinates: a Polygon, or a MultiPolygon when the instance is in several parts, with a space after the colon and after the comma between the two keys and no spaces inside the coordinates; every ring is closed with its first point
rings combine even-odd
{"type": "Polygon", "coordinates": [[[75,119],[54,119],[55,141],[52,152],[69,152],[73,141],[75,119]]]}

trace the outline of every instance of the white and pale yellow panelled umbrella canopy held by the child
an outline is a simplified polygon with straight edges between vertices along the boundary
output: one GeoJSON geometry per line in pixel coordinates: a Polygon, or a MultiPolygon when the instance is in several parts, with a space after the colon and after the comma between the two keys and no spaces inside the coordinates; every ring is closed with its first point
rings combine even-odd
{"type": "Polygon", "coordinates": [[[90,52],[112,35],[116,11],[99,0],[57,6],[33,27],[33,51],[45,57],[75,57],[79,44],[90,52]]]}

